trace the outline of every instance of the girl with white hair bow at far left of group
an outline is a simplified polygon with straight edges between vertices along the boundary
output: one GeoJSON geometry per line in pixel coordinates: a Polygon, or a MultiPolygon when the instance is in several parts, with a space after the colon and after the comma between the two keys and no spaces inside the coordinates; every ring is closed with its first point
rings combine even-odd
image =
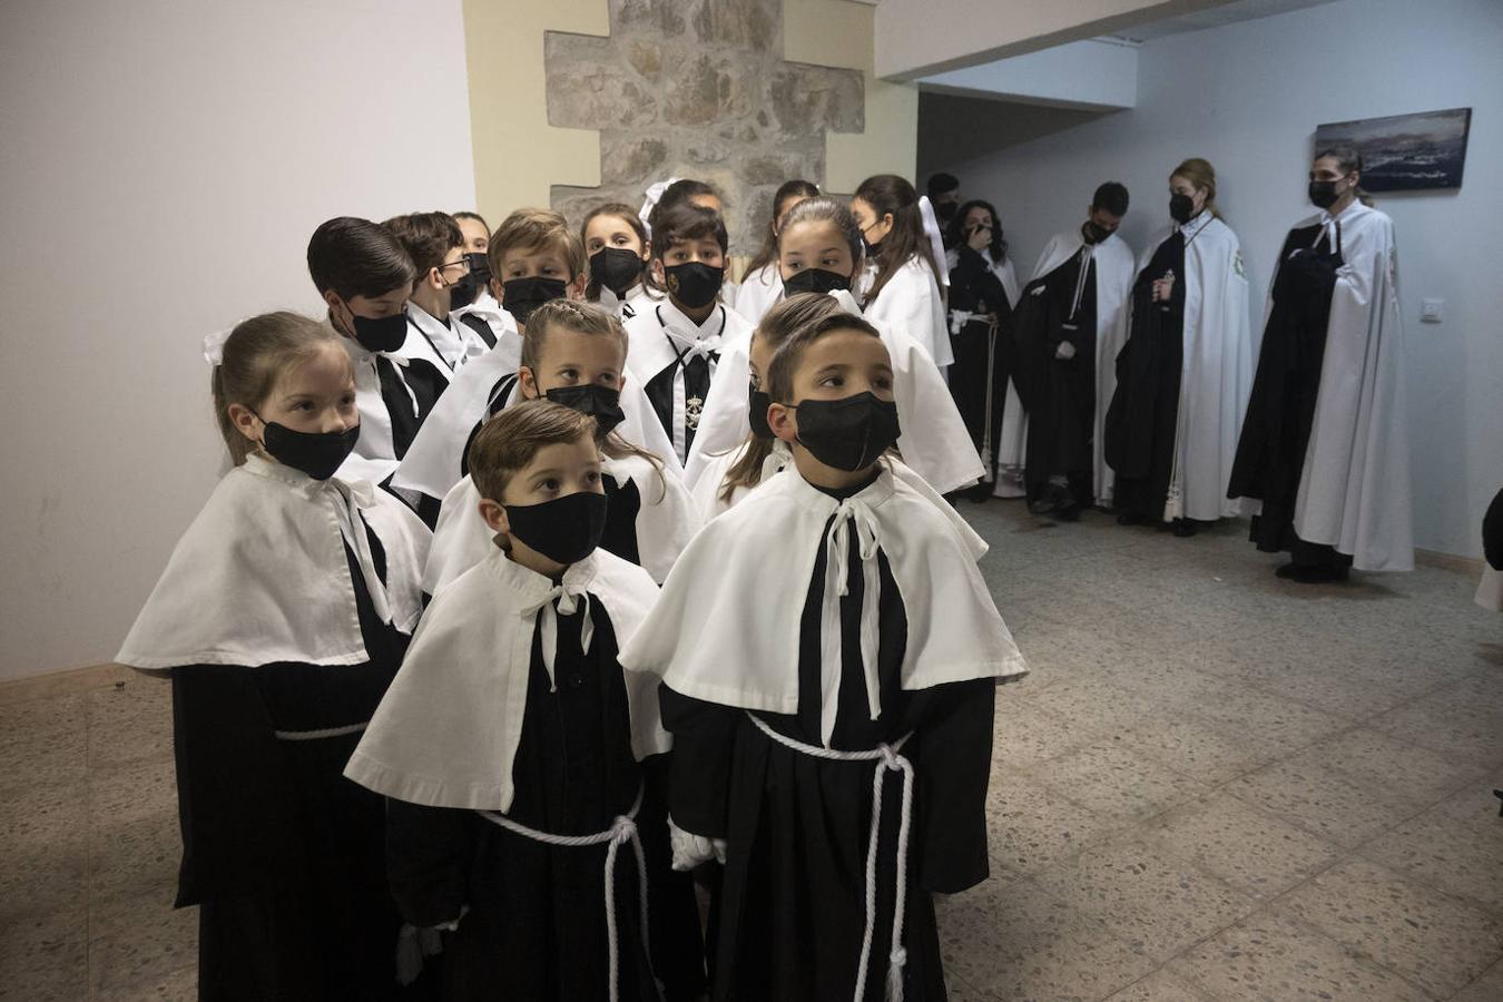
{"type": "Polygon", "coordinates": [[[213,374],[236,463],[120,653],[170,673],[200,999],[397,999],[379,796],[341,777],[401,662],[428,530],[331,475],[359,434],[350,359],[295,314],[239,324],[213,374]]]}

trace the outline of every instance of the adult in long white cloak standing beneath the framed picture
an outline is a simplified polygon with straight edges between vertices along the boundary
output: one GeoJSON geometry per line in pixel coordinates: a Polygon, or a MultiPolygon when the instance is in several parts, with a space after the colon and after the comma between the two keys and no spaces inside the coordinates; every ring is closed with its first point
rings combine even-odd
{"type": "Polygon", "coordinates": [[[1414,568],[1398,251],[1360,177],[1353,149],[1315,156],[1321,212],[1279,255],[1228,488],[1261,502],[1254,542],[1303,583],[1414,568]]]}

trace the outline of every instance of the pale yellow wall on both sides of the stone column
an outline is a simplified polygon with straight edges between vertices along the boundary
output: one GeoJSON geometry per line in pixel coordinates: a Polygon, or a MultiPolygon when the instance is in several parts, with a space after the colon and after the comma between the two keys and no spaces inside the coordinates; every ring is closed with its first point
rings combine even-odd
{"type": "MultiPolygon", "coordinates": [[[[547,123],[543,33],[609,30],[606,0],[464,0],[475,189],[491,224],[520,206],[549,204],[553,185],[600,185],[598,134],[547,123]]],[[[884,171],[912,177],[918,92],[875,78],[872,44],[870,5],[785,0],[785,59],[858,69],[866,78],[866,132],[825,140],[831,191],[849,192],[884,171]]]]}

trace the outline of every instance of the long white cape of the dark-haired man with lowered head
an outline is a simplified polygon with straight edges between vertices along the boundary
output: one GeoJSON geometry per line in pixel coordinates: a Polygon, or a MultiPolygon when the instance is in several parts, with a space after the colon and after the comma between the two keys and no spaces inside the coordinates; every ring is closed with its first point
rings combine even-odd
{"type": "MultiPolygon", "coordinates": [[[[1079,227],[1057,233],[1039,255],[1034,282],[1060,267],[1085,246],[1079,227]]],[[[1112,500],[1114,475],[1106,466],[1106,407],[1117,392],[1117,353],[1127,343],[1127,312],[1132,303],[1132,282],[1138,276],[1132,248],[1115,233],[1091,252],[1096,261],[1096,430],[1091,476],[1096,503],[1112,500]]],[[[1016,308],[1016,302],[1013,306],[1016,308]]],[[[996,443],[996,497],[1022,497],[1024,466],[1028,461],[1028,415],[1013,380],[1007,380],[1007,403],[1003,406],[1003,431],[996,443]]]]}

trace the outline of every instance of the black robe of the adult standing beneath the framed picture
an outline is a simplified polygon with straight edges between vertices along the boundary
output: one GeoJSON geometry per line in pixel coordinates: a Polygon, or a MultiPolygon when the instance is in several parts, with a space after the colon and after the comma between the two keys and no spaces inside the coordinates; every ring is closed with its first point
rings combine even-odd
{"type": "Polygon", "coordinates": [[[1279,261],[1258,373],[1226,488],[1228,497],[1263,502],[1250,538],[1269,553],[1300,544],[1294,533],[1294,503],[1315,421],[1336,269],[1342,264],[1339,236],[1332,252],[1318,224],[1290,230],[1279,261]]]}

